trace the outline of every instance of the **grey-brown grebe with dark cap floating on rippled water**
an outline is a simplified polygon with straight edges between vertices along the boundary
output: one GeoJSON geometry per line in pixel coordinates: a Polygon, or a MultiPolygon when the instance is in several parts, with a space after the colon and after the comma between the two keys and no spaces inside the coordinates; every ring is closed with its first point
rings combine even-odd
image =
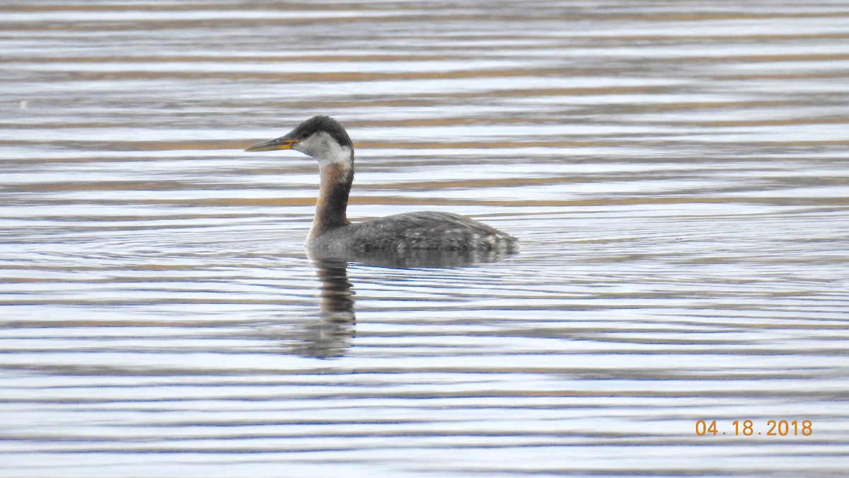
{"type": "Polygon", "coordinates": [[[346,208],[354,179],[354,145],[345,128],[331,117],[312,117],[289,134],[245,149],[275,150],[301,151],[318,160],[321,186],[312,229],[306,238],[311,250],[512,253],[517,249],[514,236],[453,213],[402,213],[351,223],[346,208]]]}

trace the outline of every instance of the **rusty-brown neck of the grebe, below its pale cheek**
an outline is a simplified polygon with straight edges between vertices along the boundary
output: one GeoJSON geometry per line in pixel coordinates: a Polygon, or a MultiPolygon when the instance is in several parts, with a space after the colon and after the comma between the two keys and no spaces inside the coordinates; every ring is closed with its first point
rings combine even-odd
{"type": "MultiPolygon", "coordinates": [[[[351,155],[353,156],[353,155],[351,155]]],[[[318,189],[316,214],[307,242],[312,242],[329,230],[351,224],[348,221],[348,193],[354,180],[353,158],[348,161],[319,162],[321,186],[318,189]]]]}

